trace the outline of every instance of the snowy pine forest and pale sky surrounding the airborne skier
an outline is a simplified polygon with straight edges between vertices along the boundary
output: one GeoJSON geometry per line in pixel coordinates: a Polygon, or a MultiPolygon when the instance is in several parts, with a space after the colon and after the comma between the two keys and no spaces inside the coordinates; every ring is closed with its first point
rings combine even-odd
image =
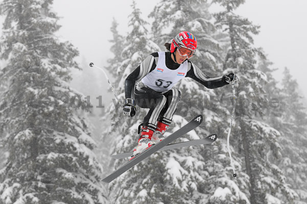
{"type": "MultiPolygon", "coordinates": [[[[43,2],[50,1],[0,0],[5,7],[0,11],[9,15],[8,21],[12,22],[2,35],[0,50],[2,56],[9,57],[0,61],[1,204],[307,203],[307,103],[300,98],[307,96],[306,1],[250,0],[234,13],[228,11],[228,15],[212,17],[212,13],[226,9],[216,4],[225,3],[232,8],[231,3],[243,1],[213,0],[215,5],[207,10],[209,5],[203,0],[187,1],[190,4],[178,0],[136,0],[134,7],[132,1],[111,4],[54,0],[52,11],[61,17],[57,22],[46,16],[47,10],[41,9],[43,2]],[[158,7],[153,17],[148,18],[158,7]],[[169,36],[178,33],[172,26],[168,27],[169,33],[162,32],[168,16],[173,14],[169,8],[180,8],[173,20],[183,22],[183,28],[191,29],[196,38],[199,36],[202,43],[192,61],[203,72],[209,76],[235,72],[240,76],[230,147],[239,177],[237,180],[232,177],[226,145],[231,104],[225,107],[201,103],[204,96],[231,98],[231,87],[207,89],[185,79],[177,84],[183,97],[168,133],[201,113],[203,124],[178,142],[214,132],[218,140],[212,145],[156,153],[111,184],[101,184],[102,177],[126,163],[109,155],[136,146],[136,127],[146,110],[138,109],[138,117],[124,118],[121,108],[112,104],[114,96],[104,75],[91,69],[89,63],[105,68],[123,97],[127,75],[148,54],[158,51],[157,47],[161,48],[169,36]],[[10,9],[14,12],[6,12],[10,9]],[[257,58],[258,52],[249,49],[253,45],[245,37],[256,28],[240,16],[261,26],[260,33],[252,38],[256,48],[264,49],[268,61],[257,58]],[[131,19],[133,23],[128,27],[131,19]],[[15,24],[18,20],[23,23],[15,24]],[[111,32],[114,20],[118,22],[118,33],[111,32]],[[248,26],[243,26],[241,20],[248,26]],[[144,21],[149,24],[144,25],[144,21]],[[151,27],[152,23],[156,27],[151,27]],[[61,28],[53,33],[56,24],[61,28]],[[218,27],[221,25],[226,28],[234,25],[238,30],[222,33],[218,27]],[[243,32],[237,35],[239,30],[243,32]],[[44,32],[47,34],[41,35],[44,32]],[[113,49],[121,52],[118,56],[110,51],[118,45],[110,42],[115,34],[124,39],[119,42],[122,49],[113,49]],[[230,38],[239,45],[235,49],[230,46],[230,38]],[[41,41],[31,43],[32,39],[41,41]],[[248,46],[240,42],[247,42],[248,46]],[[77,63],[72,60],[74,57],[77,63]],[[116,63],[109,64],[107,60],[116,63]],[[74,69],[78,66],[81,70],[74,69]],[[288,67],[288,72],[284,72],[284,67],[288,67]],[[278,70],[273,72],[274,68],[278,70]],[[70,76],[72,81],[68,80],[70,76]],[[86,98],[81,108],[75,108],[65,106],[63,95],[86,98]],[[259,97],[264,95],[278,98],[280,106],[259,107],[259,97]],[[50,98],[60,105],[53,108],[52,101],[47,100],[50,98]],[[94,105],[91,113],[84,111],[89,99],[94,105]],[[244,99],[250,99],[248,106],[239,103],[244,99]]],[[[0,21],[4,21],[4,16],[0,21]]]]}

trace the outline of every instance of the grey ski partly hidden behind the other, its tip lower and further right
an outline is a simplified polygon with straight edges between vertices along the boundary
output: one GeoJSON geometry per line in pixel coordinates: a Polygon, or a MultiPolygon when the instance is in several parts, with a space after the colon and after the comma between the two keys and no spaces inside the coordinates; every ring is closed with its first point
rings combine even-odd
{"type": "MultiPolygon", "coordinates": [[[[170,150],[170,149],[176,149],[176,148],[182,148],[182,147],[189,147],[194,145],[206,145],[211,144],[217,139],[217,134],[210,134],[206,138],[199,139],[199,140],[192,140],[187,142],[180,142],[180,143],[174,143],[174,144],[168,144],[158,151],[164,151],[164,150],[170,150]]],[[[116,158],[119,160],[120,158],[126,158],[133,155],[133,151],[120,153],[120,154],[114,154],[111,155],[111,157],[116,158]]]]}

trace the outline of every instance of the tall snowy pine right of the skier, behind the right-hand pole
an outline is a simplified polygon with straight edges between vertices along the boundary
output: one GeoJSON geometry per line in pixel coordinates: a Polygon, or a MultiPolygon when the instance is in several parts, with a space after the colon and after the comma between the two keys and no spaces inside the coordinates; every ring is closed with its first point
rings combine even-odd
{"type": "Polygon", "coordinates": [[[259,106],[266,94],[265,73],[256,69],[255,57],[264,55],[261,49],[253,47],[252,34],[257,34],[258,26],[240,17],[234,10],[242,0],[214,0],[225,8],[215,14],[216,25],[229,33],[230,48],[224,68],[225,73],[233,72],[239,77],[237,88],[236,128],[234,135],[239,137],[239,150],[243,151],[246,173],[249,176],[249,199],[251,203],[292,203],[295,192],[289,188],[282,171],[269,161],[270,156],[280,156],[277,138],[280,133],[269,126],[262,116],[264,107],[259,106]],[[243,103],[246,102],[246,103],[243,103]]]}

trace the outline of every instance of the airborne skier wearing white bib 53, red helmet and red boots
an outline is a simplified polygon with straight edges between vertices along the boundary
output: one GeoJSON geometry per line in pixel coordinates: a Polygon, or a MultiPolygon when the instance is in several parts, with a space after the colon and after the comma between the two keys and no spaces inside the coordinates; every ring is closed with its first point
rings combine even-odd
{"type": "Polygon", "coordinates": [[[136,105],[149,108],[140,126],[138,146],[134,158],[150,146],[163,140],[180,101],[181,92],[173,86],[184,77],[190,77],[207,88],[236,84],[234,73],[221,77],[207,77],[189,59],[197,47],[195,36],[183,31],[164,46],[169,52],[156,52],[146,59],[125,80],[124,114],[133,117],[136,105]]]}

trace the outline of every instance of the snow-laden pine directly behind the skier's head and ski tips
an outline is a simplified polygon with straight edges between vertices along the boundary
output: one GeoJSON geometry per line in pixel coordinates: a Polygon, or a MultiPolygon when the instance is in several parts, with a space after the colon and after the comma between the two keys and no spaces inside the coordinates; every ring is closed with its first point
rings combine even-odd
{"type": "MultiPolygon", "coordinates": [[[[155,18],[152,30],[160,44],[169,41],[183,30],[192,32],[198,40],[198,49],[191,61],[206,75],[221,76],[222,47],[227,35],[216,31],[211,23],[208,8],[206,1],[161,1],[150,14],[155,18]]],[[[180,140],[195,140],[212,132],[218,133],[219,137],[223,138],[229,123],[221,116],[226,116],[228,111],[212,100],[220,99],[217,94],[218,89],[207,89],[189,78],[183,79],[177,87],[182,92],[182,99],[176,112],[177,117],[189,118],[196,114],[203,114],[205,117],[201,128],[196,129],[197,134],[185,135],[180,140]]],[[[176,121],[173,121],[173,124],[176,124],[176,121]]],[[[179,125],[176,124],[175,127],[179,125]]],[[[225,156],[227,152],[225,140],[218,140],[209,147],[194,146],[174,152],[176,154],[165,153],[164,157],[167,158],[165,166],[169,168],[167,162],[176,161],[176,168],[182,170],[177,171],[180,174],[174,174],[172,170],[176,168],[168,169],[168,174],[164,177],[168,179],[166,183],[175,186],[180,192],[178,200],[182,200],[183,203],[220,203],[216,195],[221,189],[230,194],[232,191],[233,195],[227,195],[231,198],[229,203],[247,200],[247,196],[231,180],[229,159],[225,156]]],[[[244,182],[240,184],[245,186],[244,182]]],[[[160,191],[164,190],[170,194],[167,187],[160,191]]]]}

